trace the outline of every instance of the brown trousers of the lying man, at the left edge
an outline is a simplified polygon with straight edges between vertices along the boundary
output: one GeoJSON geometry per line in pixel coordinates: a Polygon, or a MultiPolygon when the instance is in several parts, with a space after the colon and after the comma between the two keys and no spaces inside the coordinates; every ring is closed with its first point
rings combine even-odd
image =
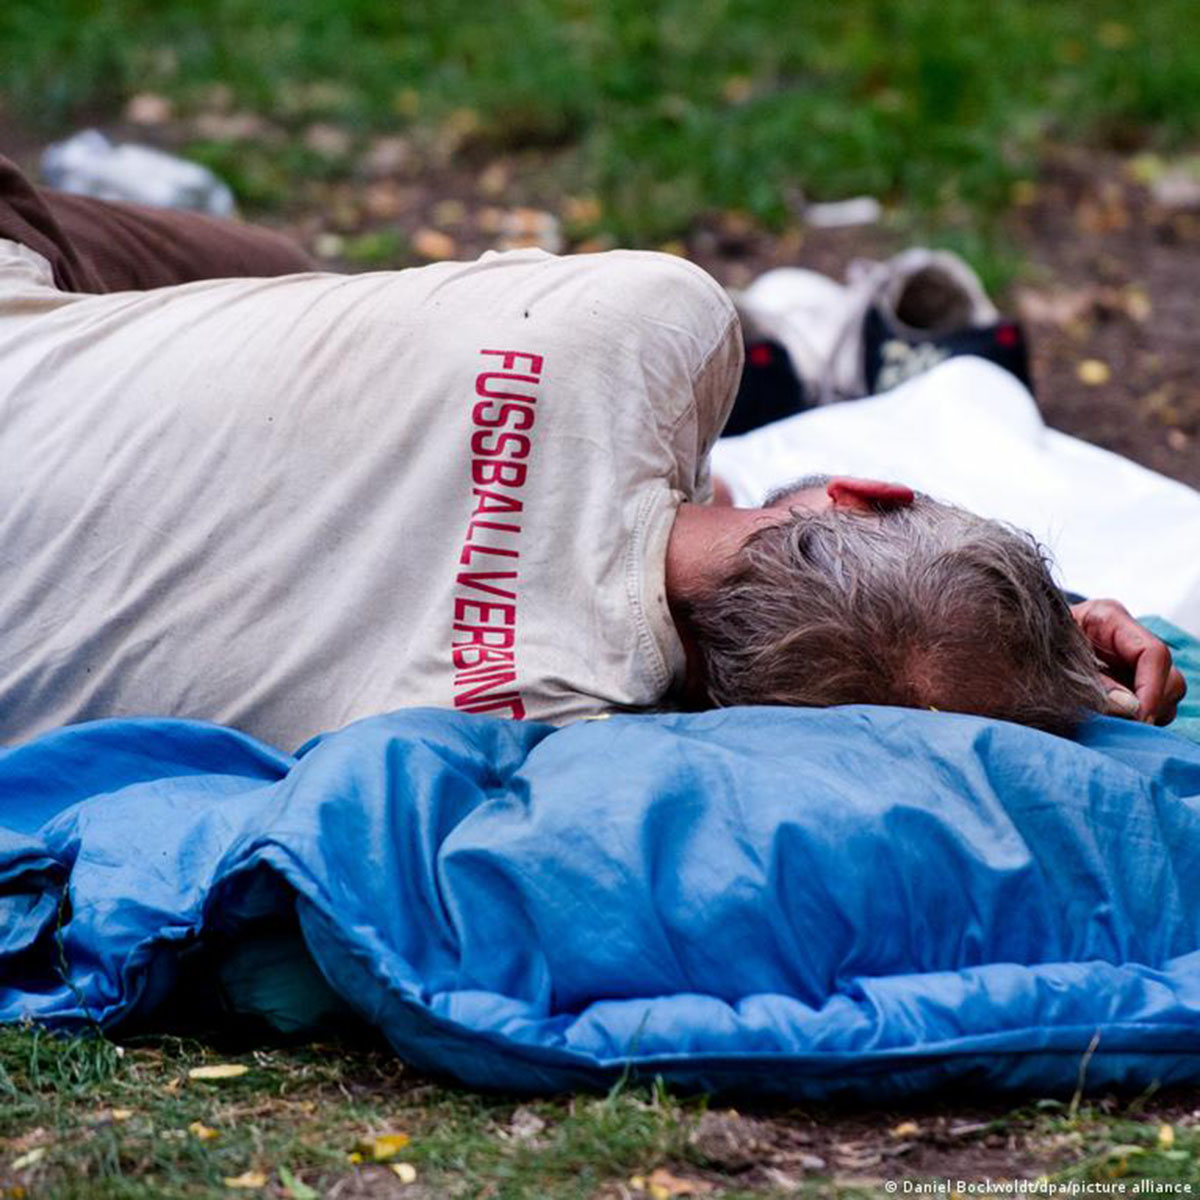
{"type": "Polygon", "coordinates": [[[0,238],[46,258],[64,292],[126,292],[314,270],[281,234],[194,212],[35,187],[0,155],[0,238]]]}

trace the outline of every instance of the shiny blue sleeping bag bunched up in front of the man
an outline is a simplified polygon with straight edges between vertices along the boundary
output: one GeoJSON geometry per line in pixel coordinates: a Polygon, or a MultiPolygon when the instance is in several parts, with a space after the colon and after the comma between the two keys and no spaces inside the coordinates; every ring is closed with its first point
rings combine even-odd
{"type": "Polygon", "coordinates": [[[1129,722],[102,721],[0,754],[0,826],[4,1021],[162,1022],[216,954],[480,1087],[1200,1082],[1200,744],[1129,722]]]}

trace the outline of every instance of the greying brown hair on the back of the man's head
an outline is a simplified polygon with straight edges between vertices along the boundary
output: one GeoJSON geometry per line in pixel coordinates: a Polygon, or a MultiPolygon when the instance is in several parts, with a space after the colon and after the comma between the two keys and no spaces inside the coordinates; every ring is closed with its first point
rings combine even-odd
{"type": "Polygon", "coordinates": [[[746,540],[688,617],[719,707],[902,704],[1057,733],[1104,707],[1044,548],[923,496],[793,510],[746,540]]]}

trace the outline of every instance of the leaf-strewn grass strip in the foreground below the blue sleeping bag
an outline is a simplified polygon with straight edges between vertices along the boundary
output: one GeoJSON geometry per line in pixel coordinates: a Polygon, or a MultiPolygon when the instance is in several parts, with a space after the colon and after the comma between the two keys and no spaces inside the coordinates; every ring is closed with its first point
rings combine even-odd
{"type": "MultiPolygon", "coordinates": [[[[694,1194],[736,1200],[796,1194],[761,1170],[748,1171],[745,1163],[714,1158],[694,1136],[704,1112],[702,1102],[682,1102],[661,1088],[524,1103],[482,1097],[430,1084],[377,1050],[312,1045],[218,1054],[178,1038],[118,1046],[101,1038],[60,1040],[7,1028],[0,1030],[0,1196],[616,1200],[624,1194],[668,1200],[694,1194]],[[246,1069],[211,1082],[190,1076],[192,1068],[214,1062],[246,1069]],[[407,1144],[380,1140],[397,1134],[407,1144]],[[377,1153],[384,1157],[377,1160],[377,1153]],[[392,1170],[401,1163],[409,1178],[415,1172],[407,1193],[392,1170]],[[641,1188],[631,1182],[637,1180],[641,1188]],[[671,1186],[697,1190],[672,1193],[671,1186]]],[[[829,1163],[810,1169],[802,1194],[880,1194],[883,1180],[900,1177],[902,1158],[884,1158],[866,1171],[839,1168],[840,1141],[853,1135],[862,1142],[860,1120],[852,1133],[839,1124],[845,1114],[768,1120],[794,1127],[802,1118],[822,1122],[832,1146],[817,1147],[829,1163]]],[[[916,1122],[907,1130],[889,1128],[894,1120],[881,1122],[883,1145],[894,1145],[899,1134],[917,1141],[928,1136],[916,1122]]],[[[1130,1194],[1136,1182],[1145,1190],[1146,1181],[1154,1181],[1160,1188],[1200,1190],[1195,1115],[1174,1121],[1154,1115],[1154,1098],[1120,1106],[1044,1100],[973,1120],[977,1140],[1019,1140],[1027,1169],[1044,1170],[1064,1186],[1124,1181],[1130,1194]]],[[[919,1123],[930,1127],[924,1116],[919,1123]]],[[[943,1158],[936,1170],[905,1171],[905,1177],[1000,1174],[972,1165],[971,1146],[965,1157],[943,1158]]],[[[769,1166],[770,1157],[772,1151],[763,1152],[755,1166],[769,1166]]]]}

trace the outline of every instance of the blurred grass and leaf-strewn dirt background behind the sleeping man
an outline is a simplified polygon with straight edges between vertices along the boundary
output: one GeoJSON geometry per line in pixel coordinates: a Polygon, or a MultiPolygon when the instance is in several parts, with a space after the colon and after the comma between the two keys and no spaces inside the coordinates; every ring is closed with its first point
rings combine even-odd
{"type": "Polygon", "coordinates": [[[0,151],[202,162],[330,269],[962,253],[1048,419],[1200,485],[1195,0],[7,0],[0,151]],[[857,209],[829,202],[863,198],[857,209]]]}

